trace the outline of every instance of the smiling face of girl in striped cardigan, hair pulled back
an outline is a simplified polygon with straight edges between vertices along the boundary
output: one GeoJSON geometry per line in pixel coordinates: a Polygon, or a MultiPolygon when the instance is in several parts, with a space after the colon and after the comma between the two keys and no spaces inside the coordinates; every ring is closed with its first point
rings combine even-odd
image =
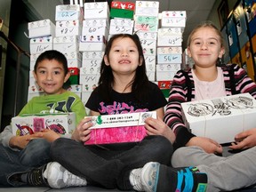
{"type": "Polygon", "coordinates": [[[188,56],[192,57],[196,66],[208,68],[215,66],[225,50],[220,42],[220,36],[214,28],[198,28],[191,36],[188,45],[188,56]]]}

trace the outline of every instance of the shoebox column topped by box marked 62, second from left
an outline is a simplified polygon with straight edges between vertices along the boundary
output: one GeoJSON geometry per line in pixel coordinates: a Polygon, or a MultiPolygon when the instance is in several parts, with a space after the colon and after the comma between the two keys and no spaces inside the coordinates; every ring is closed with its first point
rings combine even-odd
{"type": "Polygon", "coordinates": [[[79,52],[79,37],[82,31],[83,4],[61,4],[56,6],[56,33],[53,49],[62,52],[68,60],[68,90],[81,97],[82,85],[79,84],[79,70],[82,55],[79,52]]]}

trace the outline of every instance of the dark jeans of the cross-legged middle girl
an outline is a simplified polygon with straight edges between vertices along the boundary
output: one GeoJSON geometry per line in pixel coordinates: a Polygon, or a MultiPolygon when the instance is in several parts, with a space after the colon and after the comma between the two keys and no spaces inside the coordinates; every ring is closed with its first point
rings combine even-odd
{"type": "Polygon", "coordinates": [[[147,136],[139,143],[104,145],[104,148],[60,138],[52,143],[51,156],[91,185],[129,190],[132,169],[151,161],[170,165],[172,150],[171,142],[163,136],[147,136]]]}

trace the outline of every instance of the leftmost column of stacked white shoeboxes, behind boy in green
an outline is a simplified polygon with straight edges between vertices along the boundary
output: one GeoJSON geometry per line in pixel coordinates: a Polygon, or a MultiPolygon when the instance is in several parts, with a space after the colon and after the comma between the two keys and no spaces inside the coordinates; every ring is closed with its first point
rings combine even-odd
{"type": "Polygon", "coordinates": [[[55,25],[51,20],[36,20],[28,22],[28,37],[30,38],[30,68],[28,100],[43,94],[42,89],[36,84],[33,70],[37,57],[45,51],[52,50],[52,37],[55,36],[55,25]]]}

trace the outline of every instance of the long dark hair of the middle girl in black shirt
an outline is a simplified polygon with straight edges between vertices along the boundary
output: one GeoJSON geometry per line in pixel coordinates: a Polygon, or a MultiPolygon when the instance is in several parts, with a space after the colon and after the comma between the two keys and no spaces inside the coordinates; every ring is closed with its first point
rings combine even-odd
{"type": "MultiPolygon", "coordinates": [[[[132,85],[132,92],[134,93],[134,96],[137,100],[143,100],[145,95],[146,90],[148,89],[148,76],[146,73],[146,62],[144,59],[143,55],[143,49],[140,44],[140,38],[136,34],[130,35],[130,34],[116,34],[114,36],[111,36],[111,38],[108,41],[108,44],[105,49],[105,55],[109,58],[109,52],[112,47],[113,42],[117,38],[130,38],[136,44],[138,52],[139,52],[139,60],[142,60],[142,64],[138,66],[136,69],[136,73],[132,81],[127,84],[127,86],[132,85]]],[[[112,84],[114,83],[114,76],[112,73],[111,67],[105,64],[104,59],[101,61],[101,66],[100,66],[100,79],[99,79],[99,85],[101,86],[101,92],[100,95],[107,100],[107,101],[112,101],[110,97],[110,93],[112,91],[112,84]]]]}

